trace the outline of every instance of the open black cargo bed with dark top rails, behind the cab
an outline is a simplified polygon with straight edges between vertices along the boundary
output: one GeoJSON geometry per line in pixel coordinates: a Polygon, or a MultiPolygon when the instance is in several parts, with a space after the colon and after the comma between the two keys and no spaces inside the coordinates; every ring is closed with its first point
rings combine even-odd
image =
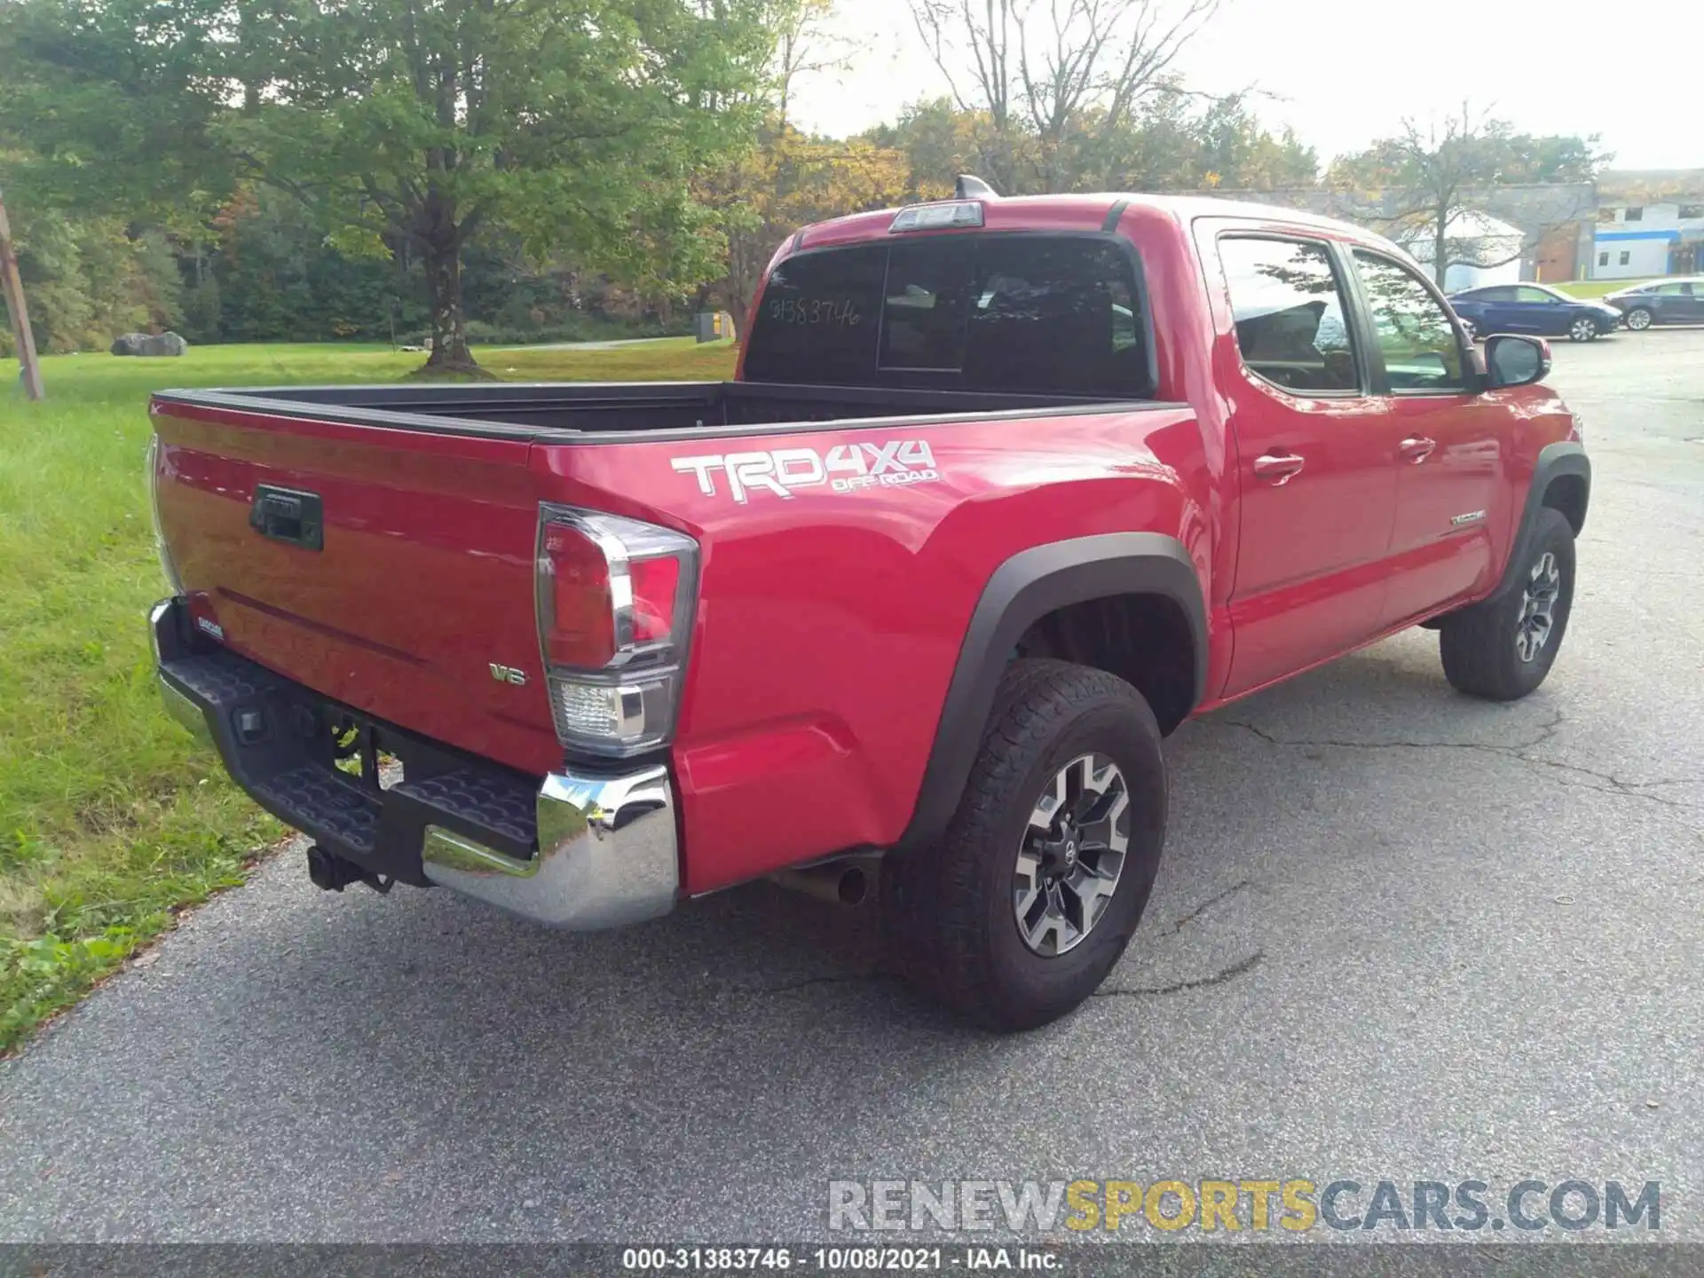
{"type": "Polygon", "coordinates": [[[648,431],[651,438],[796,431],[813,421],[886,421],[963,414],[1029,416],[1041,409],[1099,412],[1104,399],[760,382],[501,382],[472,385],[268,387],[164,390],[157,406],[264,412],[556,443],[600,443],[648,431]]]}

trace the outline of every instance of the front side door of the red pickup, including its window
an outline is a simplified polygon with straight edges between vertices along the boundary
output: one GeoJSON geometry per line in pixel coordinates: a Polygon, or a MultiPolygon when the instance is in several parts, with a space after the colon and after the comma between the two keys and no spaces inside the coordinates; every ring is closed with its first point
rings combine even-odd
{"type": "Polygon", "coordinates": [[[1491,504],[1505,460],[1498,424],[1510,416],[1494,394],[1477,392],[1443,298],[1392,257],[1367,249],[1351,257],[1372,324],[1373,385],[1399,435],[1380,622],[1389,629],[1489,584],[1491,504]]]}

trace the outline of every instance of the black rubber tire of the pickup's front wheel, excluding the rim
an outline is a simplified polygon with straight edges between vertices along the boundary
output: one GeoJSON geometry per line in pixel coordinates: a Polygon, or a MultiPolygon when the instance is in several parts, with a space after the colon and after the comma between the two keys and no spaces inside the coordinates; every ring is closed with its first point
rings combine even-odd
{"type": "Polygon", "coordinates": [[[1573,612],[1574,530],[1563,513],[1544,506],[1532,538],[1518,554],[1522,564],[1508,590],[1445,617],[1438,627],[1443,676],[1462,692],[1486,700],[1520,700],[1544,683],[1573,612]],[[1561,578],[1552,622],[1544,646],[1532,659],[1523,659],[1517,649],[1517,634],[1527,612],[1527,588],[1546,556],[1551,556],[1561,578]]]}

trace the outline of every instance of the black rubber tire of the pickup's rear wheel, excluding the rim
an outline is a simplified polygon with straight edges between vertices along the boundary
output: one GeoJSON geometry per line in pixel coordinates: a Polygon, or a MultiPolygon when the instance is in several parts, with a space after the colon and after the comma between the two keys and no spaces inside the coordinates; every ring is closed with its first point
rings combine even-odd
{"type": "Polygon", "coordinates": [[[925,995],[987,1029],[1055,1021],[1125,953],[1164,842],[1166,760],[1142,694],[1068,661],[1014,661],[946,837],[886,859],[883,905],[901,968],[925,995]],[[1084,753],[1104,755],[1123,774],[1128,849],[1099,922],[1075,947],[1043,956],[1014,913],[1019,847],[1043,787],[1084,753]]]}

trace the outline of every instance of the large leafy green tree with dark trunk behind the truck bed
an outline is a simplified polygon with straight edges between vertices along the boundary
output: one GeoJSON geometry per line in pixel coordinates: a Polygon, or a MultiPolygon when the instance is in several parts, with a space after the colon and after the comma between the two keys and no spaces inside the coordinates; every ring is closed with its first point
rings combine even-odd
{"type": "Polygon", "coordinates": [[[61,179],[112,169],[126,193],[164,181],[215,203],[254,181],[346,252],[406,247],[426,274],[428,368],[470,370],[462,254],[487,227],[639,281],[714,274],[692,179],[750,140],[792,3],[24,0],[0,53],[27,89],[0,95],[0,130],[34,143],[49,121],[36,150],[61,179]],[[138,153],[111,153],[102,95],[140,118],[138,153]]]}

